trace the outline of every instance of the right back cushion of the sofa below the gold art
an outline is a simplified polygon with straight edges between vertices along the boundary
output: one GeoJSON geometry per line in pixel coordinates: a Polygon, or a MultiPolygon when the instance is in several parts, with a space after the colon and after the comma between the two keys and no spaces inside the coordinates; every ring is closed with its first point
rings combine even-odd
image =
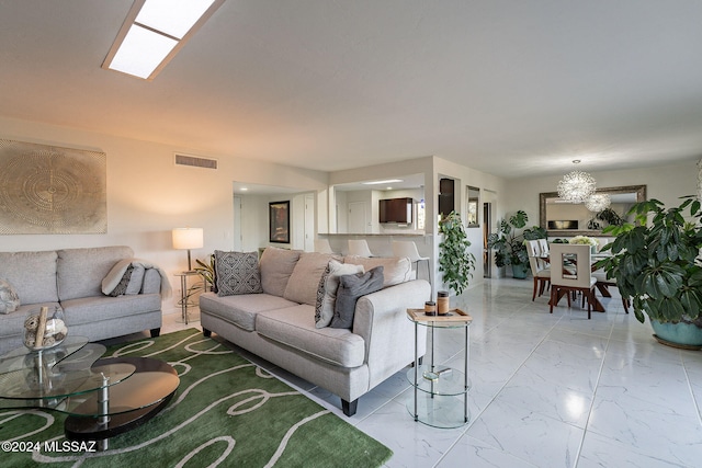
{"type": "Polygon", "coordinates": [[[59,250],[57,261],[58,297],[61,301],[102,296],[102,279],[120,260],[132,259],[125,246],[59,250]]]}

